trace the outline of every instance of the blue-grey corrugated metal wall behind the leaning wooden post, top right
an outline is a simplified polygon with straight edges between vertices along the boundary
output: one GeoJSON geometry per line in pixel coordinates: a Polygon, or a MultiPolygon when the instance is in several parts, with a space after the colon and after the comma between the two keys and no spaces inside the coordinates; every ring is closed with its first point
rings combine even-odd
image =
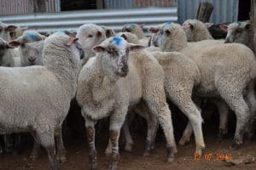
{"type": "Polygon", "coordinates": [[[177,0],[178,22],[195,19],[200,2],[209,2],[213,5],[210,22],[214,24],[234,22],[238,16],[238,0],[177,0]]]}

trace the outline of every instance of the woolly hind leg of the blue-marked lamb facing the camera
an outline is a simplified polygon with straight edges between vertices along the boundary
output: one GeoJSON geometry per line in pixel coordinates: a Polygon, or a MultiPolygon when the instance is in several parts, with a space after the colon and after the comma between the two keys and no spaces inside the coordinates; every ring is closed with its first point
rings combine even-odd
{"type": "Polygon", "coordinates": [[[173,135],[171,111],[166,103],[166,94],[161,87],[151,87],[146,90],[143,99],[147,103],[149,110],[157,116],[158,122],[165,133],[167,160],[172,162],[174,161],[175,153],[177,153],[177,146],[173,135]]]}

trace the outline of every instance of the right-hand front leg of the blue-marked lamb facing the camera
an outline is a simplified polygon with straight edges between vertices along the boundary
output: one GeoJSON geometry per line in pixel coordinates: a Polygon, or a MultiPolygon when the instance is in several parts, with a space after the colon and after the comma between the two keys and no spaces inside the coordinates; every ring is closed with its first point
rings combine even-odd
{"type": "Polygon", "coordinates": [[[120,129],[125,122],[125,111],[115,111],[113,116],[110,116],[109,139],[112,144],[112,155],[109,165],[109,170],[116,170],[119,162],[119,134],[120,129]]]}

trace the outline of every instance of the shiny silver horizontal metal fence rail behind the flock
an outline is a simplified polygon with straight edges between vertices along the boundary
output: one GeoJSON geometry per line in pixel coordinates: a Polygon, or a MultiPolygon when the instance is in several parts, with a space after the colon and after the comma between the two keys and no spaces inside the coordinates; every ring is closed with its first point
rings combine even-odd
{"type": "Polygon", "coordinates": [[[148,28],[166,21],[177,22],[177,8],[102,9],[19,14],[0,16],[0,20],[17,26],[28,26],[30,30],[37,31],[76,30],[85,23],[109,26],[115,31],[119,31],[126,23],[145,24],[145,28],[148,28]]]}

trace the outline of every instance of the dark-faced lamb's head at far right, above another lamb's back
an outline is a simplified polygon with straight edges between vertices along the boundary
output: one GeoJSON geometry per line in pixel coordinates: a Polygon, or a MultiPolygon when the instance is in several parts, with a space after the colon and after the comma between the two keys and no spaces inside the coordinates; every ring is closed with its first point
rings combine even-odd
{"type": "Polygon", "coordinates": [[[250,23],[247,22],[236,22],[228,26],[228,34],[225,38],[225,43],[243,43],[248,45],[253,34],[250,23]]]}

